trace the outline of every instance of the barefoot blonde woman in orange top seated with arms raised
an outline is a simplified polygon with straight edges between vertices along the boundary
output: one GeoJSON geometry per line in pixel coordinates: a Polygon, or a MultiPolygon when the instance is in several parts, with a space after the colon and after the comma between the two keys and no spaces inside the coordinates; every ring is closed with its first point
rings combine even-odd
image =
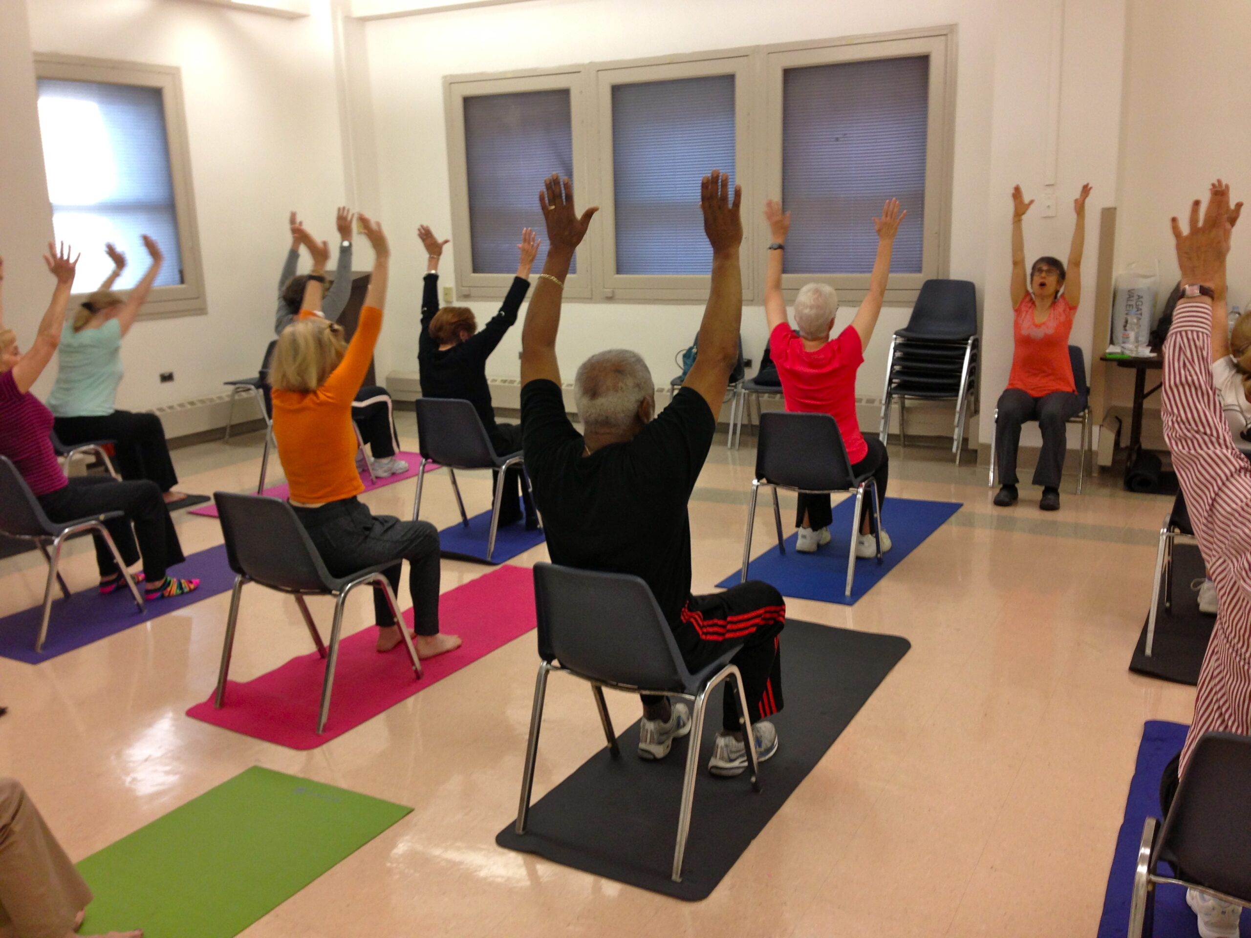
{"type": "MultiPolygon", "coordinates": [[[[428,522],[374,515],[357,499],[365,487],[357,473],[352,401],[382,331],[390,259],[382,225],[364,215],[360,224],[374,248],[374,270],[355,335],[344,343],[343,326],[310,311],[322,304],[322,284],[309,280],[300,319],[283,330],[270,365],[274,439],[291,507],[333,577],[394,560],[387,578],[399,593],[400,560],[409,562],[417,653],[430,658],[460,645],[455,635],[439,634],[439,532],[428,522]]],[[[377,587],[374,612],[378,650],[389,652],[403,638],[402,624],[377,587]]]]}

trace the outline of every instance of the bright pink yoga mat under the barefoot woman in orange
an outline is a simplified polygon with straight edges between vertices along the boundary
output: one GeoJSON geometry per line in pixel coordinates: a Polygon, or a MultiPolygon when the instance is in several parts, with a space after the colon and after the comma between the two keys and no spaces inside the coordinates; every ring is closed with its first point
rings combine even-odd
{"type": "MultiPolygon", "coordinates": [[[[362,590],[362,595],[350,602],[370,602],[368,590],[362,590]]],[[[404,619],[413,624],[412,609],[404,613],[404,619]]],[[[334,673],[330,718],[322,735],[317,734],[317,718],[325,660],[317,652],[293,658],[246,683],[228,682],[225,705],[220,710],[214,709],[210,695],[189,709],[186,715],[266,743],[315,749],[533,629],[533,574],[528,568],[500,567],[457,587],[440,597],[439,620],[443,632],[460,635],[464,644],[448,654],[423,660],[424,677],[420,680],[414,679],[413,665],[403,645],[387,654],[374,650],[378,638],[374,629],[362,629],[343,639],[334,673]]],[[[322,627],[325,637],[329,623],[322,623],[322,627]]],[[[248,620],[244,612],[239,628],[263,629],[265,623],[248,620]]]]}

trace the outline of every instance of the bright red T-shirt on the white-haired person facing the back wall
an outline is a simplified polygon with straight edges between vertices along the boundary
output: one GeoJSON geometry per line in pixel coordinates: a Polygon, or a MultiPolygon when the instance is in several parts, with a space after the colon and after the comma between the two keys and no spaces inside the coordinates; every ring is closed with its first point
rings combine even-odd
{"type": "Polygon", "coordinates": [[[864,361],[859,333],[847,326],[816,351],[787,323],[769,336],[769,354],[778,366],[786,409],[798,414],[829,414],[843,435],[852,463],[868,455],[856,419],[856,371],[864,361]]]}

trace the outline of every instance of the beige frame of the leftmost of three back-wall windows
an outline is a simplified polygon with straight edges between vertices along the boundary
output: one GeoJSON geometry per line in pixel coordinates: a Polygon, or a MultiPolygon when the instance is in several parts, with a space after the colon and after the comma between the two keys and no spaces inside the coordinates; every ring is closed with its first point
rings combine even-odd
{"type": "MultiPolygon", "coordinates": [[[[507,75],[449,75],[443,79],[444,115],[448,129],[448,184],[452,195],[452,256],[458,298],[469,300],[503,299],[513,285],[512,274],[479,274],[473,269],[473,241],[469,223],[469,165],[465,153],[464,99],[483,95],[523,94],[525,91],[569,91],[569,124],[573,139],[573,176],[575,205],[594,205],[589,199],[595,186],[590,181],[585,146],[585,73],[582,66],[509,73],[507,75]]],[[[534,180],[534,204],[538,205],[542,179],[534,180]]],[[[592,299],[590,268],[594,253],[594,231],[598,223],[578,245],[578,271],[564,283],[564,295],[570,299],[592,299]]],[[[547,233],[537,230],[547,240],[547,233]]],[[[520,231],[517,233],[518,239],[520,231]]],[[[530,278],[538,274],[534,271],[530,278]]]]}

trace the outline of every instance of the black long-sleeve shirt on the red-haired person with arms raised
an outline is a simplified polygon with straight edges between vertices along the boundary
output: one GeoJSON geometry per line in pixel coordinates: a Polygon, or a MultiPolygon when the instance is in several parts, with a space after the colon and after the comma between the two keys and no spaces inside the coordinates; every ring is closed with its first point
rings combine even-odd
{"type": "Polygon", "coordinates": [[[529,289],[529,280],[513,278],[499,313],[464,341],[440,351],[439,344],[430,336],[430,320],[439,311],[439,275],[425,275],[422,290],[422,334],[417,340],[422,396],[468,400],[492,439],[495,435],[495,410],[490,405],[490,386],[487,384],[487,359],[517,321],[517,313],[529,289]]]}

